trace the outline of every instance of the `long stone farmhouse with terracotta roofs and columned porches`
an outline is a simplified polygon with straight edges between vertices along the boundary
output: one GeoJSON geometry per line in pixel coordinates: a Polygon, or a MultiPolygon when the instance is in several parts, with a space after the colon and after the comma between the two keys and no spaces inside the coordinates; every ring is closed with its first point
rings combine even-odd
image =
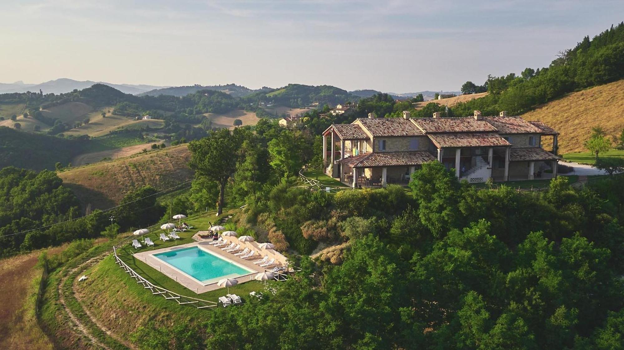
{"type": "Polygon", "coordinates": [[[422,164],[439,161],[459,179],[485,182],[557,176],[559,133],[519,116],[358,118],[323,131],[325,172],[353,187],[407,184],[422,164]],[[541,147],[553,137],[553,150],[541,147]]]}

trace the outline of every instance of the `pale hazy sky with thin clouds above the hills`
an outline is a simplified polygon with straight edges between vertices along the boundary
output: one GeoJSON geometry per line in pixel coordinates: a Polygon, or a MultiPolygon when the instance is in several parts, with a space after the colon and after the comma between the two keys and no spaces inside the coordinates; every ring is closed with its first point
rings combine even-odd
{"type": "Polygon", "coordinates": [[[459,90],[547,66],[624,1],[1,0],[0,82],[459,90]]]}

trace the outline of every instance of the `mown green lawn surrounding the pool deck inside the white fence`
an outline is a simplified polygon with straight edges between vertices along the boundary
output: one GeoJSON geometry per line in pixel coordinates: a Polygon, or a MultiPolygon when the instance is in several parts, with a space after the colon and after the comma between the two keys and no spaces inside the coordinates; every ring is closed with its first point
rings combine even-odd
{"type": "MultiPolygon", "coordinates": [[[[223,217],[227,217],[227,215],[228,214],[226,213],[223,215],[223,217]]],[[[180,285],[180,283],[177,283],[175,280],[172,280],[166,275],[163,275],[162,273],[158,272],[158,270],[155,270],[154,268],[150,267],[146,263],[141,262],[140,260],[137,260],[132,255],[135,252],[142,252],[145,250],[155,250],[155,249],[172,247],[174,245],[192,243],[194,242],[194,240],[191,237],[195,233],[197,233],[198,230],[207,230],[209,227],[209,222],[212,222],[214,224],[218,221],[218,219],[214,216],[214,212],[208,212],[208,214],[202,214],[202,215],[189,217],[185,219],[184,221],[194,226],[195,229],[188,230],[187,232],[178,233],[178,235],[180,235],[182,239],[162,242],[158,240],[158,236],[160,235],[160,233],[163,232],[163,230],[154,229],[152,230],[152,232],[145,235],[145,237],[150,237],[150,239],[154,241],[155,247],[153,248],[144,247],[144,248],[135,250],[134,248],[130,246],[130,244],[125,244],[124,247],[122,247],[120,250],[117,250],[117,255],[122,260],[124,260],[124,262],[127,263],[129,267],[132,268],[132,270],[135,270],[135,272],[139,273],[142,277],[146,278],[147,280],[154,283],[155,285],[161,286],[162,288],[166,288],[180,295],[193,296],[195,298],[202,298],[204,300],[216,302],[219,296],[223,296],[226,294],[225,289],[207,291],[205,293],[200,293],[198,295],[197,293],[195,293],[195,291],[189,288],[186,288],[183,285],[180,285]]],[[[121,269],[119,270],[121,271],[121,269]]],[[[269,283],[271,284],[271,283],[280,283],[280,282],[272,281],[269,283]]],[[[240,285],[230,287],[230,293],[239,295],[241,298],[245,299],[246,297],[249,296],[250,291],[263,291],[264,288],[265,288],[265,282],[248,281],[245,283],[241,283],[240,285]]]]}

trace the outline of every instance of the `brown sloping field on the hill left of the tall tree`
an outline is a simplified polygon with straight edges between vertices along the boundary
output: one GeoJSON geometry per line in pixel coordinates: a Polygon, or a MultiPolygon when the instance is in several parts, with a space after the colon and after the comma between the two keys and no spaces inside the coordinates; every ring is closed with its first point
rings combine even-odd
{"type": "Polygon", "coordinates": [[[181,144],[70,169],[59,173],[59,177],[82,204],[104,209],[119,203],[127,192],[139,187],[167,189],[190,180],[193,172],[187,166],[189,160],[188,145],[181,144]]]}

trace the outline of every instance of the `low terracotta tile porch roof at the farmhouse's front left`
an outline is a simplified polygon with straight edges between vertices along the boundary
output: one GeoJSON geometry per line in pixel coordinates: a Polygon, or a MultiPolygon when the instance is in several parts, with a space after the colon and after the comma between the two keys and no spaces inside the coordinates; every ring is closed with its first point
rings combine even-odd
{"type": "Polygon", "coordinates": [[[343,159],[341,163],[353,168],[373,168],[376,166],[414,166],[436,160],[436,157],[427,151],[364,153],[351,158],[353,159],[343,159]]]}

